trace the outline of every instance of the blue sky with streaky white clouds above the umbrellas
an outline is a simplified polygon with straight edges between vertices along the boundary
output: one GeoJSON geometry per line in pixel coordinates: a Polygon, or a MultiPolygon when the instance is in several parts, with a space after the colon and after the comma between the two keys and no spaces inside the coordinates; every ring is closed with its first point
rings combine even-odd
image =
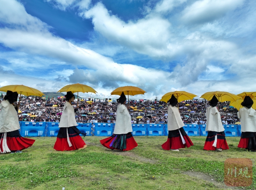
{"type": "MultiPolygon", "coordinates": [[[[253,0],[0,0],[0,86],[256,89],[253,0]]],[[[82,94],[81,94],[82,95],[82,94]]],[[[88,96],[88,94],[84,94],[88,96]]]]}

